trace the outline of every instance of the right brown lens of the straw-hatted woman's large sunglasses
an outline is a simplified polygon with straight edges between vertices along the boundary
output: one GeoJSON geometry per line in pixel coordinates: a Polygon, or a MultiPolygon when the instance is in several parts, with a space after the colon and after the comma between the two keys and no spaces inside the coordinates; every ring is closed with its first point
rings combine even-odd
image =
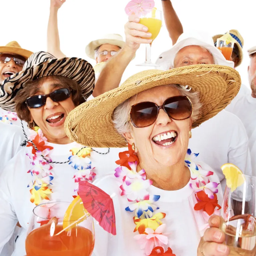
{"type": "Polygon", "coordinates": [[[183,120],[190,117],[192,106],[186,97],[178,96],[167,99],[164,109],[170,118],[183,120]]]}

